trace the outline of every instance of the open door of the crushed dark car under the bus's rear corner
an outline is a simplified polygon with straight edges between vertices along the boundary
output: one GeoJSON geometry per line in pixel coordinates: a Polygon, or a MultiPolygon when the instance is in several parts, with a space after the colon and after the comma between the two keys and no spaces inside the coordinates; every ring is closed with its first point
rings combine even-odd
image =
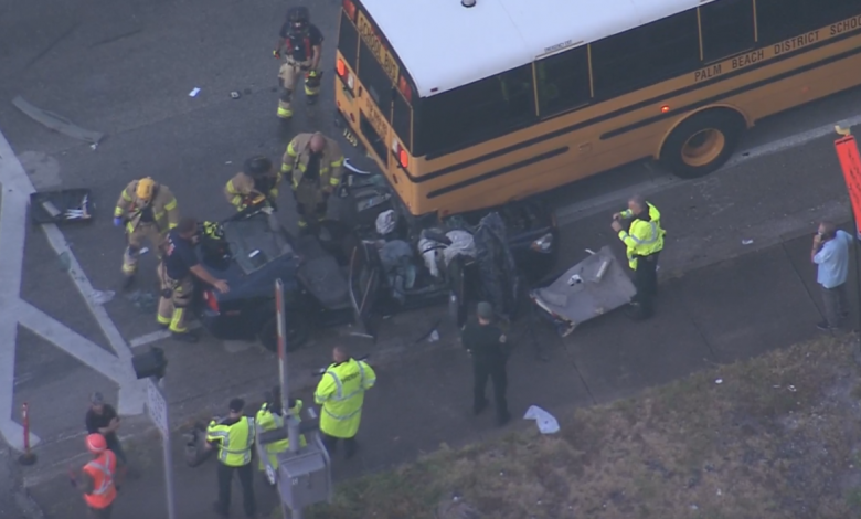
{"type": "Polygon", "coordinates": [[[383,280],[383,267],[373,244],[360,242],[350,255],[350,303],[360,332],[376,339],[380,316],[374,311],[383,280]]]}

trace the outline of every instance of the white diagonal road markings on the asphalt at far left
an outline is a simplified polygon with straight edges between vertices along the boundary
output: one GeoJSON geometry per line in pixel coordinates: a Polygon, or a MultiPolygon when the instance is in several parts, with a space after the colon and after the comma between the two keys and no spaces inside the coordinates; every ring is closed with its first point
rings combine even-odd
{"type": "MultiPolygon", "coordinates": [[[[119,385],[118,409],[121,414],[144,412],[146,394],[144,384],[131,369],[131,350],[123,340],[116,325],[105,309],[95,305],[89,295],[93,286],[81,269],[75,255],[68,248],[63,234],[55,225],[45,225],[44,231],[54,251],[66,253],[70,258],[70,274],[84,301],[107,337],[114,352],[105,351],[98,345],[72,331],[62,322],[21,299],[21,275],[26,237],[28,203],[34,188],[11,146],[0,133],[0,434],[13,448],[23,447],[22,427],[12,416],[14,398],[14,366],[18,326],[24,326],[57,348],[66,351],[84,364],[98,371],[119,385]]],[[[31,433],[31,445],[39,438],[31,433]]]]}

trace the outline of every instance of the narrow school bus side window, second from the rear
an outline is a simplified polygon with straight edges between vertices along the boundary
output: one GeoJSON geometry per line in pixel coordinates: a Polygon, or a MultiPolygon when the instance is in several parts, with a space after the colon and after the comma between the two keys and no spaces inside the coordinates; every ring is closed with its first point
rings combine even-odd
{"type": "Polygon", "coordinates": [[[535,67],[541,117],[589,102],[589,57],[586,45],[545,57],[536,62],[535,67]]]}

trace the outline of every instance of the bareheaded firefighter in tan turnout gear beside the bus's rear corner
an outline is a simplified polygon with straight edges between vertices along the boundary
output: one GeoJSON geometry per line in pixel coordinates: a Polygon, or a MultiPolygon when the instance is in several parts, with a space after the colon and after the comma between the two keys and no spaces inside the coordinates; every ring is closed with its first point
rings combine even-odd
{"type": "Polygon", "coordinates": [[[281,173],[290,177],[299,230],[326,219],[329,197],[341,186],[343,153],[322,134],[299,134],[287,146],[281,173]]]}

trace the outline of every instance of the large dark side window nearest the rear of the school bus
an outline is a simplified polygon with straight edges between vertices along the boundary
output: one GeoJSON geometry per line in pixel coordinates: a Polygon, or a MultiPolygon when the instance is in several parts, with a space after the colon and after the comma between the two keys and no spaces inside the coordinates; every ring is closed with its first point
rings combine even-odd
{"type": "Polygon", "coordinates": [[[423,98],[414,126],[414,155],[465,148],[535,119],[532,65],[423,98]]]}

